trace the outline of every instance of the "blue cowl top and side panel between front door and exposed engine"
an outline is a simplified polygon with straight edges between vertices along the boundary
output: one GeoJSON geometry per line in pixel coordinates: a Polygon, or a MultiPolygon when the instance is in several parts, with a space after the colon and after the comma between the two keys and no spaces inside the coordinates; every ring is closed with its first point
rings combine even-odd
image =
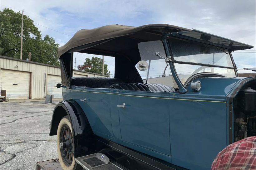
{"type": "MultiPolygon", "coordinates": [[[[252,77],[204,77],[201,90],[170,93],[172,163],[204,170],[229,144],[229,95],[252,77]],[[178,130],[172,130],[172,129],[178,130]],[[182,149],[181,149],[182,148],[182,149]]],[[[232,110],[231,110],[232,112],[232,110]]],[[[233,122],[233,117],[232,117],[233,122]]],[[[233,130],[233,126],[231,127],[233,130]]],[[[232,131],[233,134],[233,131],[232,131]]]]}

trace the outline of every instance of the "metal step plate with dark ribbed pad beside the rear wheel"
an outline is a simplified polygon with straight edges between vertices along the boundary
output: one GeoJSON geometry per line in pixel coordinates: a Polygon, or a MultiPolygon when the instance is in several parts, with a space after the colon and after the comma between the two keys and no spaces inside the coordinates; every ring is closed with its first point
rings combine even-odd
{"type": "Polygon", "coordinates": [[[102,153],[75,158],[75,161],[86,170],[122,170],[109,161],[109,158],[102,153]]]}

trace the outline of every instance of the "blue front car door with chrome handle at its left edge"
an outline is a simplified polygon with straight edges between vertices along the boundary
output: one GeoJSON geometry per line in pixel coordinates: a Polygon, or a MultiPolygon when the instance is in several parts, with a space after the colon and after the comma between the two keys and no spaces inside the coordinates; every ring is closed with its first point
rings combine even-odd
{"type": "Polygon", "coordinates": [[[169,93],[120,90],[118,107],[123,144],[171,162],[169,93]]]}

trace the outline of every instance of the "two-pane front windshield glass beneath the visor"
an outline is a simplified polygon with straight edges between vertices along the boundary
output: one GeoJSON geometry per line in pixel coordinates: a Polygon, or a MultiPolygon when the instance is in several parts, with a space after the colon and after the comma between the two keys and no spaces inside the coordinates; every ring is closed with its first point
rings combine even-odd
{"type": "Polygon", "coordinates": [[[234,69],[219,67],[234,67],[226,49],[173,37],[169,38],[169,42],[175,61],[186,62],[175,63],[175,69],[183,84],[190,76],[203,72],[236,77],[234,69]],[[198,66],[193,63],[212,66],[198,66]]]}

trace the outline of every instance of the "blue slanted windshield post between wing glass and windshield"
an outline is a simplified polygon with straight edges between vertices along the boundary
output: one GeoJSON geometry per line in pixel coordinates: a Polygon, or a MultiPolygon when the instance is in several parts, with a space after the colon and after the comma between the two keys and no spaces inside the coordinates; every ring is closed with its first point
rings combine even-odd
{"type": "Polygon", "coordinates": [[[170,70],[171,73],[173,75],[173,78],[175,80],[175,82],[177,83],[178,87],[179,87],[179,93],[186,93],[188,90],[184,87],[184,85],[181,83],[178,74],[175,70],[175,66],[174,63],[172,61],[172,57],[171,57],[171,51],[170,51],[170,46],[169,46],[169,42],[168,42],[168,37],[172,36],[170,32],[167,32],[163,35],[162,37],[162,41],[164,43],[165,46],[165,50],[166,50],[166,56],[167,58],[165,59],[166,63],[168,62],[170,64],[170,70]]]}

